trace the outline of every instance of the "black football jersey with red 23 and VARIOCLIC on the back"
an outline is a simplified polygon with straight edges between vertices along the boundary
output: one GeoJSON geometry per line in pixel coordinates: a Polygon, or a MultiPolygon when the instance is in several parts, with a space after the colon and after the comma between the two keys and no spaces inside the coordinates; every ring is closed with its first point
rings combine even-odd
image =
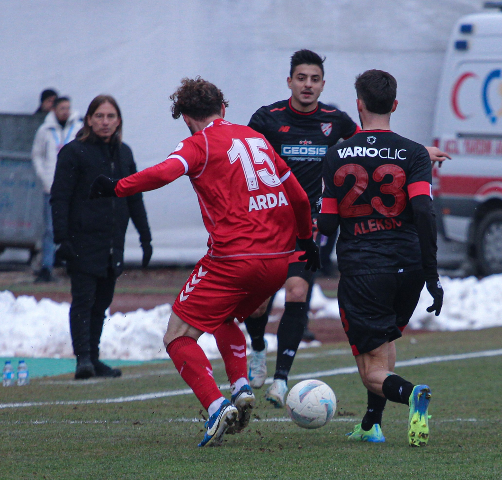
{"type": "Polygon", "coordinates": [[[410,198],[431,195],[424,146],[389,130],[365,130],[328,150],[321,213],[340,215],[336,254],[344,275],[422,268],[410,198]]]}

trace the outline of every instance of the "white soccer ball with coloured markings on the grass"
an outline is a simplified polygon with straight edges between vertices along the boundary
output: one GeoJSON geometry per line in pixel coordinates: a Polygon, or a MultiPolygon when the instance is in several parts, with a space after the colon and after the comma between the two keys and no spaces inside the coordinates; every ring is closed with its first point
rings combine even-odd
{"type": "Polygon", "coordinates": [[[336,397],[320,380],[304,380],[289,392],[286,409],[291,420],[302,428],[320,428],[335,414],[336,397]]]}

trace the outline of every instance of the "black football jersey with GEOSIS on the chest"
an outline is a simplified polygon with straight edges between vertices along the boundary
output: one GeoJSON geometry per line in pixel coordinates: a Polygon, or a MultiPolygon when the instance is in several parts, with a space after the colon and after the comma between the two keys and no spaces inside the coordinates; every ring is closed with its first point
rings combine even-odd
{"type": "Polygon", "coordinates": [[[344,111],[321,102],[308,113],[295,110],[290,98],[262,106],[248,126],[264,135],[291,168],[309,197],[312,213],[317,213],[328,148],[351,137],[357,125],[344,111]]]}

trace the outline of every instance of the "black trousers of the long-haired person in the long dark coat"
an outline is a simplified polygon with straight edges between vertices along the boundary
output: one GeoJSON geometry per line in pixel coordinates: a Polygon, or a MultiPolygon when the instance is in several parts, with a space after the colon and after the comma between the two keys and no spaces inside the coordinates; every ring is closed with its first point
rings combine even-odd
{"type": "Polygon", "coordinates": [[[75,355],[99,356],[104,312],[113,300],[116,277],[111,267],[106,277],[68,272],[71,280],[70,332],[75,355]]]}

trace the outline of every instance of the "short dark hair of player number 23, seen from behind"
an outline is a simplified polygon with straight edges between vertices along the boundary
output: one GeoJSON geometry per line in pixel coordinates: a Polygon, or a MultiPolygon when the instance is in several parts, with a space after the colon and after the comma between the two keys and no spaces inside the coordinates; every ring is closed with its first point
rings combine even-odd
{"type": "Polygon", "coordinates": [[[389,113],[396,99],[397,89],[396,79],[383,70],[366,70],[355,78],[357,98],[372,113],[389,113]]]}

